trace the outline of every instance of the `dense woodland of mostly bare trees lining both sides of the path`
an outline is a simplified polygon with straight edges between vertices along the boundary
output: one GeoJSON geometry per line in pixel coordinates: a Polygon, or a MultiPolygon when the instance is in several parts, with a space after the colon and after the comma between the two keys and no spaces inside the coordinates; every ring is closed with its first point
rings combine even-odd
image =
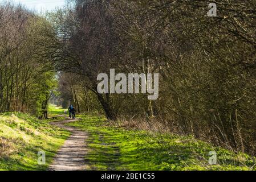
{"type": "Polygon", "coordinates": [[[50,98],[122,127],[256,151],[256,1],[76,0],[39,16],[0,7],[0,111],[50,98]],[[159,98],[99,94],[97,75],[159,73],[159,98]]]}

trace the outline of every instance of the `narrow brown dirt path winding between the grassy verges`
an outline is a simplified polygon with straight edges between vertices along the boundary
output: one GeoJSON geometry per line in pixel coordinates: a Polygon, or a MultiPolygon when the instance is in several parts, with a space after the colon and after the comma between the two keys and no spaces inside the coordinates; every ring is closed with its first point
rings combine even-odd
{"type": "Polygon", "coordinates": [[[50,171],[82,171],[86,168],[84,156],[87,153],[87,134],[72,126],[65,126],[68,122],[73,122],[70,118],[65,121],[53,122],[52,125],[61,127],[71,132],[62,148],[54,158],[54,162],[49,167],[50,171]]]}

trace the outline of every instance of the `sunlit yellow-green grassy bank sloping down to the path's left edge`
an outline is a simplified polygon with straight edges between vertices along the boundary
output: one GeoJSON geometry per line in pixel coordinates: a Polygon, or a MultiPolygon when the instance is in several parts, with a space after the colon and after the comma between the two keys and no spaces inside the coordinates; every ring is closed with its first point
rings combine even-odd
{"type": "Polygon", "coordinates": [[[1,114],[0,170],[46,170],[69,135],[27,114],[1,114]],[[39,151],[46,152],[46,165],[38,165],[39,151]]]}

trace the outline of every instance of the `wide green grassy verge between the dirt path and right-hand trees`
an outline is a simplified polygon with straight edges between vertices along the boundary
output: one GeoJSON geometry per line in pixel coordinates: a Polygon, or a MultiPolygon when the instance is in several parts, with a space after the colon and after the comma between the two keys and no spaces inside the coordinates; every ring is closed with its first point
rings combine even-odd
{"type": "Polygon", "coordinates": [[[254,158],[192,137],[125,130],[108,126],[104,118],[83,116],[69,123],[90,134],[86,156],[91,170],[250,170],[254,158]],[[216,151],[217,165],[209,165],[216,151]]]}

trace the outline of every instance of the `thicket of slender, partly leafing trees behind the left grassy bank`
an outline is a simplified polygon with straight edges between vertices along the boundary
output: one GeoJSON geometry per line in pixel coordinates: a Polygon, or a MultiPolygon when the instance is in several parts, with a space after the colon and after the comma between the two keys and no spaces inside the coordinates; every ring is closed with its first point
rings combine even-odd
{"type": "Polygon", "coordinates": [[[0,5],[0,113],[22,111],[46,117],[48,100],[57,86],[54,68],[47,63],[46,39],[51,24],[22,6],[0,5]]]}

